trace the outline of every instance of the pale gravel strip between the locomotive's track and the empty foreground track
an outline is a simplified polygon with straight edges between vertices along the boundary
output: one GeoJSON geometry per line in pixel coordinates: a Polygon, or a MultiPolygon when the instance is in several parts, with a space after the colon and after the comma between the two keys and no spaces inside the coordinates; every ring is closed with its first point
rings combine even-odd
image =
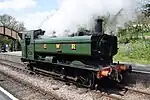
{"type": "Polygon", "coordinates": [[[66,100],[108,100],[108,97],[102,96],[97,98],[95,94],[91,91],[84,91],[82,88],[77,88],[76,86],[65,85],[64,82],[53,80],[52,78],[39,77],[38,75],[26,75],[24,73],[19,73],[6,66],[0,66],[0,71],[5,74],[9,74],[16,79],[22,80],[23,82],[28,82],[33,86],[44,89],[50,92],[52,95],[57,95],[59,98],[66,100]],[[55,89],[57,88],[57,89],[55,89]],[[81,93],[82,91],[82,93],[81,93]]]}

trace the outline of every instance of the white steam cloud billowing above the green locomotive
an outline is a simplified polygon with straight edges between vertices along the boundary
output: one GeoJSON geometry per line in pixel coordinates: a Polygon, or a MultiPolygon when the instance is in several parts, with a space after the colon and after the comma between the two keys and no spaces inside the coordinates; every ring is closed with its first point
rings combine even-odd
{"type": "Polygon", "coordinates": [[[117,26],[122,27],[135,18],[134,9],[137,6],[137,0],[61,0],[59,9],[43,24],[42,29],[46,30],[45,36],[53,31],[56,36],[64,36],[65,30],[72,34],[80,26],[92,29],[93,18],[110,14],[107,29],[116,31],[117,26]],[[121,9],[120,15],[115,17],[121,9]]]}

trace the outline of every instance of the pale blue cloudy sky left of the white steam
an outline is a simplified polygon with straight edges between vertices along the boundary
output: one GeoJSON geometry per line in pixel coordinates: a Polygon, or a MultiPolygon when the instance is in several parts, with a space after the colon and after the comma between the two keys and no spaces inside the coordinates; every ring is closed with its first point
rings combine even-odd
{"type": "Polygon", "coordinates": [[[0,0],[0,15],[23,21],[27,29],[39,28],[58,8],[59,0],[0,0]]]}

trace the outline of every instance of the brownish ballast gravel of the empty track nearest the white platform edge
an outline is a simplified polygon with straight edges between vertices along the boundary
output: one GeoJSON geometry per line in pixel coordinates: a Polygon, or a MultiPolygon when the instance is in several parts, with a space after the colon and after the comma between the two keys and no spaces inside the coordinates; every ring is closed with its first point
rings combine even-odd
{"type": "Polygon", "coordinates": [[[49,95],[41,94],[31,87],[25,86],[2,73],[0,73],[0,86],[8,90],[19,100],[57,100],[49,95]]]}

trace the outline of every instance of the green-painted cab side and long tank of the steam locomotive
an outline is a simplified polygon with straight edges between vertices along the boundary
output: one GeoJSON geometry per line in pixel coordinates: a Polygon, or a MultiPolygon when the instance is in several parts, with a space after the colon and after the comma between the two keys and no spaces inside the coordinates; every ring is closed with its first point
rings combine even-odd
{"type": "Polygon", "coordinates": [[[22,34],[21,40],[22,58],[34,60],[35,52],[90,56],[91,37],[92,36],[75,36],[34,39],[33,31],[26,31],[22,34]],[[27,38],[30,40],[28,45],[25,42],[27,38]],[[46,44],[46,48],[44,48],[44,44],[46,44]],[[60,49],[56,48],[56,44],[60,44],[60,49]],[[76,45],[75,50],[72,50],[72,44],[76,45]]]}

